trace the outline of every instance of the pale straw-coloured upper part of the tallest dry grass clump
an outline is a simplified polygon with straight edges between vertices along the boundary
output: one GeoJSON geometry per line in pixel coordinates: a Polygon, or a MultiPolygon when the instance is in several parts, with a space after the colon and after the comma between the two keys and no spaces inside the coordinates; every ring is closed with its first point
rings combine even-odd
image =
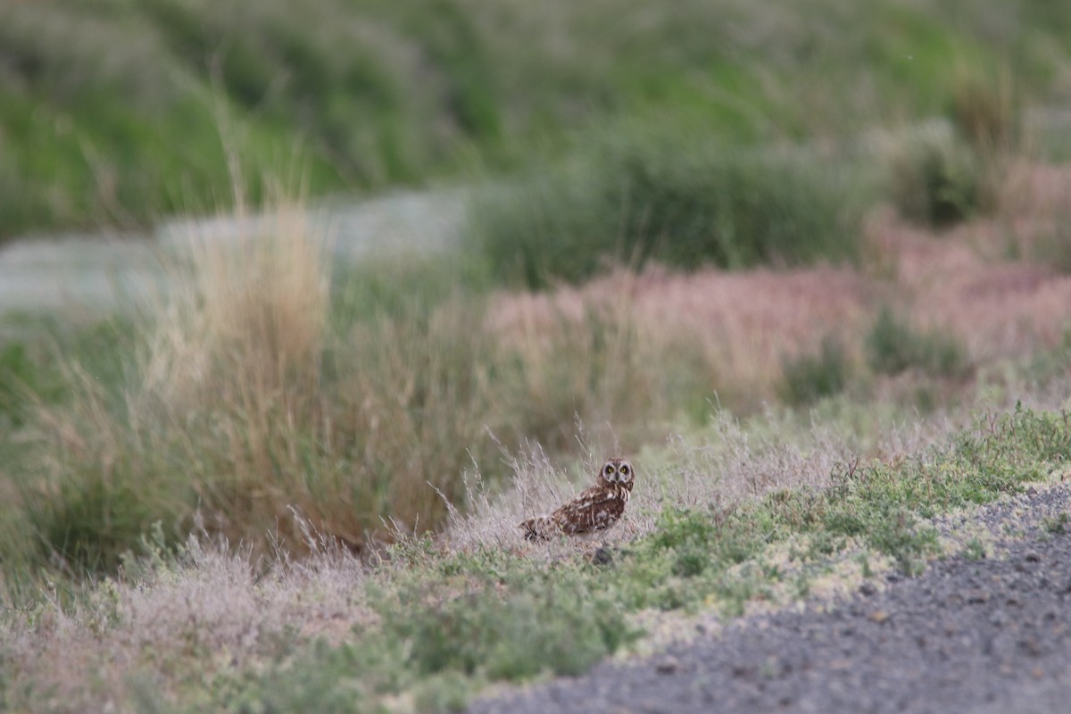
{"type": "Polygon", "coordinates": [[[327,244],[300,208],[267,232],[191,229],[175,292],[156,305],[145,388],[169,404],[243,401],[259,419],[314,392],[329,313],[327,244]]]}

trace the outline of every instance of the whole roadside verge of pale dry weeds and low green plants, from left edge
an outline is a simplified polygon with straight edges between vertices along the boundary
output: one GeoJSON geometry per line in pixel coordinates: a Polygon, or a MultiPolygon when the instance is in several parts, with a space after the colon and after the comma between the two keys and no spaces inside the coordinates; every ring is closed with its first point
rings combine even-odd
{"type": "MultiPolygon", "coordinates": [[[[673,478],[649,472],[648,486],[668,498],[659,512],[634,514],[638,530],[612,543],[604,564],[567,544],[545,553],[491,541],[442,550],[410,538],[371,569],[327,551],[305,561],[282,553],[258,573],[247,551],[196,540],[170,551],[149,538],[129,579],[90,589],[77,608],[46,601],[5,616],[7,633],[33,636],[5,639],[20,665],[4,660],[4,704],[108,696],[167,711],[455,709],[492,682],[585,671],[632,647],[652,609],[733,617],[805,595],[839,562],[865,563],[864,577],[887,560],[918,574],[939,552],[929,518],[1045,482],[1066,464],[1069,424],[1067,414],[1019,408],[916,458],[848,464],[825,488],[721,505],[690,504],[673,478]],[[312,599],[298,605],[298,593],[312,599]],[[86,648],[141,654],[115,679],[86,648]],[[235,656],[212,656],[220,648],[235,656]],[[85,685],[94,677],[103,688],[85,685]]],[[[665,467],[666,476],[680,468],[665,467]]],[[[719,487],[704,488],[709,498],[719,487]]],[[[974,552],[968,543],[965,557],[974,552]]]]}

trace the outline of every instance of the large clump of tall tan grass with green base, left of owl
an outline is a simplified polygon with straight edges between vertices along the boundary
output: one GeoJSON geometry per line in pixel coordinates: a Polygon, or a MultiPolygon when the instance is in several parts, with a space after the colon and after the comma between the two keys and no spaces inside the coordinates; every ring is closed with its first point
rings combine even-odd
{"type": "Polygon", "coordinates": [[[25,499],[47,556],[115,571],[157,520],[180,540],[199,520],[298,551],[296,513],[355,551],[389,540],[388,521],[442,522],[442,498],[491,447],[479,305],[404,318],[372,305],[333,328],[327,238],[297,209],[265,225],[192,236],[127,383],[85,377],[73,405],[42,410],[25,499]]]}

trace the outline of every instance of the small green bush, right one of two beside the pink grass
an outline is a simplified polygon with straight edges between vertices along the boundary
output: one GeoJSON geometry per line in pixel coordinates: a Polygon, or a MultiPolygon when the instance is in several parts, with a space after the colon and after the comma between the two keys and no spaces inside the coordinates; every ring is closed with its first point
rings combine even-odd
{"type": "Polygon", "coordinates": [[[963,348],[941,332],[920,333],[883,307],[866,335],[866,359],[879,375],[919,369],[933,377],[954,377],[967,368],[963,348]]]}

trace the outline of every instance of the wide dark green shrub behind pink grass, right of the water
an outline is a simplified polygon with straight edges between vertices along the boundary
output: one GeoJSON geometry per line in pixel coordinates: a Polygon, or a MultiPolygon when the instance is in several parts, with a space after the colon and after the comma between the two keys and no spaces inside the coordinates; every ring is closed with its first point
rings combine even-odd
{"type": "Polygon", "coordinates": [[[625,134],[477,199],[471,247],[529,287],[614,263],[739,269],[855,256],[846,184],[825,163],[693,139],[625,134]]]}

